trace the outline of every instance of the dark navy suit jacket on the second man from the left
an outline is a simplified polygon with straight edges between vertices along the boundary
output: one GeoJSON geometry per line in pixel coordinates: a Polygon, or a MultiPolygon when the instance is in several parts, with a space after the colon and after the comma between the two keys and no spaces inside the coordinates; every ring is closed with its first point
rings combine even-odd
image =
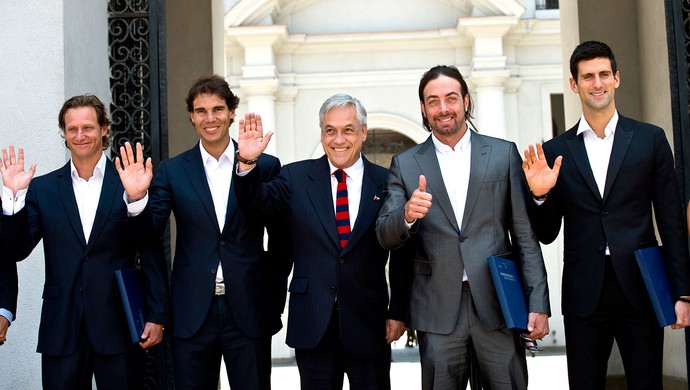
{"type": "MultiPolygon", "coordinates": [[[[234,141],[233,141],[234,142],[234,141]]],[[[259,176],[268,181],[280,161],[261,156],[259,176]]],[[[235,183],[231,184],[231,187],[235,183]]],[[[289,261],[275,242],[264,253],[264,221],[237,208],[230,189],[223,231],[218,226],[199,145],[163,161],[149,190],[153,229],[162,234],[172,211],[177,242],[171,279],[173,335],[190,338],[211,305],[218,262],[223,265],[225,299],[238,326],[250,338],[270,337],[281,328],[289,261]],[[273,250],[271,250],[273,249],[273,250]],[[281,261],[287,266],[281,267],[281,261]],[[287,268],[287,269],[286,269],[287,268]]],[[[275,240],[269,226],[270,241],[275,240]]]]}

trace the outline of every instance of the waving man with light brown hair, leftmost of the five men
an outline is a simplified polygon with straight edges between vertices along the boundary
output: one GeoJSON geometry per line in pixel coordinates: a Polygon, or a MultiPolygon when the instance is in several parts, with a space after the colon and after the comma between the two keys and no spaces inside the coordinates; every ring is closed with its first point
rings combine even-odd
{"type": "Polygon", "coordinates": [[[71,159],[33,180],[20,149],[3,149],[2,240],[8,257],[25,259],[43,239],[45,286],[38,334],[44,389],[138,389],[144,351],[160,342],[167,310],[165,262],[159,241],[130,228],[124,188],[103,150],[109,124],[95,96],[68,99],[58,116],[71,159]],[[29,185],[29,183],[31,185],[29,185]],[[28,190],[27,190],[28,187],[28,190]],[[9,196],[7,196],[9,195],[9,196]],[[141,255],[146,324],[130,338],[115,271],[141,255]]]}

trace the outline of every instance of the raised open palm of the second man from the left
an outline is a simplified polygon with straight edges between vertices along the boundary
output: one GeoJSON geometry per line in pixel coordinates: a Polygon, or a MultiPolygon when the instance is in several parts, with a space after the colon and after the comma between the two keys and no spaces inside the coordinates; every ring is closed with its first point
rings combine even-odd
{"type": "Polygon", "coordinates": [[[146,196],[153,179],[153,163],[151,157],[144,162],[144,152],[139,142],[136,145],[136,158],[129,142],[120,146],[120,157],[115,157],[115,168],[130,201],[146,196]]]}

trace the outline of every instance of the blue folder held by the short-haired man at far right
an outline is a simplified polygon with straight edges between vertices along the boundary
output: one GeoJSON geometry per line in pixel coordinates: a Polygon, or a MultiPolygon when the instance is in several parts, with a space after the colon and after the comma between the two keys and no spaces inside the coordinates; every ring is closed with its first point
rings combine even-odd
{"type": "Polygon", "coordinates": [[[676,323],[675,301],[666,274],[666,262],[661,248],[653,246],[635,251],[637,265],[654,306],[656,319],[662,328],[676,323]]]}

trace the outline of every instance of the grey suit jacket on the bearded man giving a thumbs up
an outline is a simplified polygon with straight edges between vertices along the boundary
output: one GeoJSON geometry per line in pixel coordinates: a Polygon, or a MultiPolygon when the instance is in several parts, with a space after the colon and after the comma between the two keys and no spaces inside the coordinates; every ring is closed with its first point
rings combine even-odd
{"type": "Polygon", "coordinates": [[[509,252],[521,260],[529,311],[550,314],[546,270],[527,215],[529,191],[517,147],[474,132],[471,137],[470,180],[461,223],[455,219],[431,137],[395,156],[391,164],[376,230],[386,249],[412,241],[409,326],[420,331],[453,331],[463,268],[482,324],[489,330],[504,327],[487,257],[509,252]],[[419,175],[426,177],[432,206],[407,229],[404,206],[419,186],[419,175]]]}

